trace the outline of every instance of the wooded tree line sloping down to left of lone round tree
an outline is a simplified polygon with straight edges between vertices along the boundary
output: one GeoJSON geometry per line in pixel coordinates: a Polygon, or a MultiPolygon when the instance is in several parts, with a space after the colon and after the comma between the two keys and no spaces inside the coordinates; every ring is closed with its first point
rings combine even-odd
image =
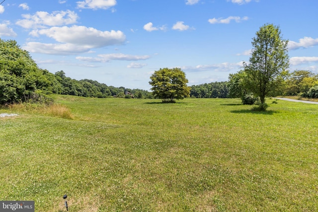
{"type": "Polygon", "coordinates": [[[64,71],[53,74],[40,69],[16,41],[0,39],[0,104],[45,100],[48,94],[153,98],[147,90],[108,86],[90,79],[76,80],[64,71]],[[127,92],[131,94],[125,95],[127,92]]]}

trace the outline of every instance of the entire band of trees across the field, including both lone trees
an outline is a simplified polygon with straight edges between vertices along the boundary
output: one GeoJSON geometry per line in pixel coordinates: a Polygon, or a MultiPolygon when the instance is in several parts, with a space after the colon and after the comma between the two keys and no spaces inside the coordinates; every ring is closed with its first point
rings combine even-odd
{"type": "Polygon", "coordinates": [[[179,68],[155,71],[149,82],[152,92],[108,86],[95,80],[76,80],[64,71],[55,74],[38,68],[29,53],[14,40],[0,39],[0,105],[46,101],[48,94],[82,97],[161,98],[167,102],[191,98],[241,98],[244,104],[277,95],[318,98],[318,74],[308,70],[288,71],[288,40],[280,37],[279,27],[263,25],[252,41],[252,54],[243,69],[229,75],[228,81],[187,86],[179,68]]]}

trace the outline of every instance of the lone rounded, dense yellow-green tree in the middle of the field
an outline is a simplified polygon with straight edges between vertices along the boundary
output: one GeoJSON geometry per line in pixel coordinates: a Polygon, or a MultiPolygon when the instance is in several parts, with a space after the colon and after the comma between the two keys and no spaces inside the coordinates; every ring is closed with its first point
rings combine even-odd
{"type": "Polygon", "coordinates": [[[188,79],[179,68],[159,69],[150,79],[155,98],[162,99],[162,102],[174,102],[174,99],[183,99],[190,95],[191,87],[186,84],[188,79]]]}

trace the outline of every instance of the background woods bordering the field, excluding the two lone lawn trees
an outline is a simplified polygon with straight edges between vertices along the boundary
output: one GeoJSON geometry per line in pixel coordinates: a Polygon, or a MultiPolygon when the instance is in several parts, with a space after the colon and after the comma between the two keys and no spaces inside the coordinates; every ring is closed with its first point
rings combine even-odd
{"type": "MultiPolygon", "coordinates": [[[[239,74],[239,73],[237,73],[239,74]]],[[[239,83],[230,80],[192,85],[191,98],[230,98],[239,83]],[[232,89],[231,89],[232,88],[232,89]]],[[[66,94],[83,97],[154,98],[142,89],[108,86],[90,79],[76,80],[64,71],[55,74],[38,68],[29,53],[14,40],[0,39],[0,104],[45,100],[47,94],[66,94]]],[[[318,98],[318,75],[311,71],[294,71],[285,79],[282,95],[301,95],[318,98]]]]}

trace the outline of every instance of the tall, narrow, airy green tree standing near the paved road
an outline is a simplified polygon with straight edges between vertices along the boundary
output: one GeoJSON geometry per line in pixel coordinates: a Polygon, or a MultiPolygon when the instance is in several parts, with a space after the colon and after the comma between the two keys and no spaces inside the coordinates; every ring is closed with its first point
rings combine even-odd
{"type": "Polygon", "coordinates": [[[265,110],[265,97],[275,95],[288,74],[288,40],[281,37],[279,26],[265,24],[252,41],[249,64],[244,64],[247,90],[260,98],[260,109],[265,110]]]}

